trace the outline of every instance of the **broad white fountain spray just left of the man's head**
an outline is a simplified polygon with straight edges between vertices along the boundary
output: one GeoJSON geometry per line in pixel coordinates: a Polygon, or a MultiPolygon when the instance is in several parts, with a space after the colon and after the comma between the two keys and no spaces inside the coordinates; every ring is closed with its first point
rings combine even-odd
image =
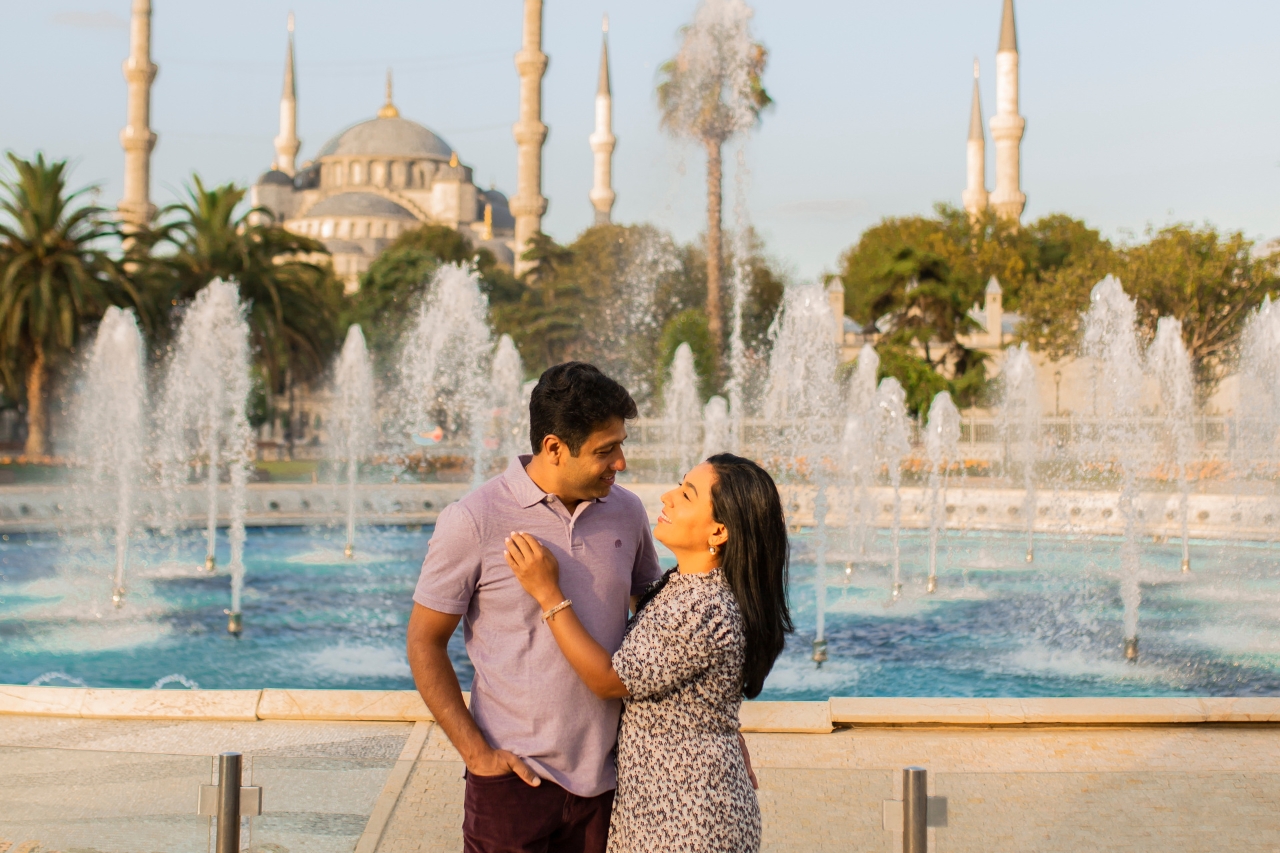
{"type": "Polygon", "coordinates": [[[489,360],[493,334],[489,302],[471,269],[436,270],[399,357],[402,426],[415,443],[428,446],[436,429],[443,441],[471,457],[471,483],[485,479],[489,360]],[[425,442],[425,443],[424,443],[425,442]]]}

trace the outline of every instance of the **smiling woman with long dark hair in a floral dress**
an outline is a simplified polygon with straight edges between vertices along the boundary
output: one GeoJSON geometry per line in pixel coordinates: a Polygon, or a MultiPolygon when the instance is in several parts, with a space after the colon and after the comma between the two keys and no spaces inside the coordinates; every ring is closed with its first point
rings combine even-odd
{"type": "Polygon", "coordinates": [[[641,597],[612,657],[573,615],[556,557],[536,539],[513,533],[507,564],[579,676],[623,701],[611,853],[754,852],[760,808],[737,712],[792,630],[782,502],[764,469],[721,453],[662,507],[654,537],[677,567],[641,597]]]}

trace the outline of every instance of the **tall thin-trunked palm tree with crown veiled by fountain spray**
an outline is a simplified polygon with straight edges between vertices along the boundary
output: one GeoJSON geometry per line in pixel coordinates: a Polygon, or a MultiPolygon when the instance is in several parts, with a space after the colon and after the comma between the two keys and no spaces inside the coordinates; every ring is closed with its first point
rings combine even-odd
{"type": "Polygon", "coordinates": [[[742,0],[705,0],[694,23],[681,28],[680,51],[663,63],[658,85],[662,126],[707,150],[707,323],[717,373],[724,342],[722,150],[773,102],[762,82],[768,51],[751,41],[750,17],[742,0]]]}

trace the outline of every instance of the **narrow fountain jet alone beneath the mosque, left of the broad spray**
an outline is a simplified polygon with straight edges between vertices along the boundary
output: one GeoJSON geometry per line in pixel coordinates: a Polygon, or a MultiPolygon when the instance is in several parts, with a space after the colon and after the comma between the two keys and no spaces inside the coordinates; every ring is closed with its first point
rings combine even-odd
{"type": "Polygon", "coordinates": [[[347,467],[347,546],[348,560],[356,556],[356,482],[360,460],[369,455],[376,429],[374,415],[374,369],[365,347],[365,333],[357,324],[347,329],[333,379],[333,409],[329,433],[334,459],[347,467]]]}

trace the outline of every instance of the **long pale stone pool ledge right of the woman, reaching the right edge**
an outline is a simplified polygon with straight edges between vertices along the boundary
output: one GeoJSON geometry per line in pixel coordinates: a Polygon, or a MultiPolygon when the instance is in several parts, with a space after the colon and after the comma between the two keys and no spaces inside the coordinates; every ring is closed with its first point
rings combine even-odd
{"type": "Polygon", "coordinates": [[[1280,698],[833,698],[846,726],[1199,725],[1280,722],[1280,698]]]}

